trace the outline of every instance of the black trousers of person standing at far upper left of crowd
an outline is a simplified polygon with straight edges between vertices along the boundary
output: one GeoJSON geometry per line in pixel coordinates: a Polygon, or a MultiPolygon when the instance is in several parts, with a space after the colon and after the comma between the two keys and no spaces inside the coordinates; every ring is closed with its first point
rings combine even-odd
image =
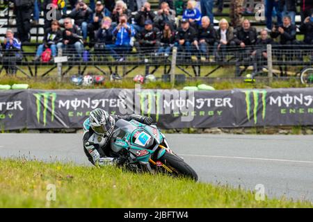
{"type": "Polygon", "coordinates": [[[33,7],[15,8],[17,37],[21,42],[29,42],[31,40],[31,14],[33,7]]]}

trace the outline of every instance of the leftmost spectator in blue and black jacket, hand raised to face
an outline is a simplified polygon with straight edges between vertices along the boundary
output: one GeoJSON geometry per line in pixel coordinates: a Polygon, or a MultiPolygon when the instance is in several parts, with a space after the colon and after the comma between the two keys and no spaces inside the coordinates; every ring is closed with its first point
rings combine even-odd
{"type": "Polygon", "coordinates": [[[3,51],[3,67],[6,69],[6,74],[16,74],[16,62],[22,60],[22,45],[17,38],[14,37],[12,30],[6,31],[6,38],[4,39],[3,51]]]}

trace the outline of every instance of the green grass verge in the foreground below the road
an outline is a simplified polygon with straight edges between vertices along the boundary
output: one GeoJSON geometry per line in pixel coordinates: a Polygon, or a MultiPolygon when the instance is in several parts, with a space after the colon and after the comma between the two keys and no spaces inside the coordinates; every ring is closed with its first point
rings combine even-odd
{"type": "MultiPolygon", "coordinates": [[[[49,196],[49,194],[48,194],[49,196]]],[[[0,207],[313,207],[250,191],[114,167],[0,159],[0,207]],[[46,200],[47,185],[56,200],[46,200]],[[51,191],[51,190],[50,190],[51,191]]]]}

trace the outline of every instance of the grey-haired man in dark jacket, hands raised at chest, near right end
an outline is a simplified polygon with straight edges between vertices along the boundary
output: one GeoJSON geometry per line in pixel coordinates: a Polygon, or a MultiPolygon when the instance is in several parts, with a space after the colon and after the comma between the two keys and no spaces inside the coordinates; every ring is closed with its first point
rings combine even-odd
{"type": "Polygon", "coordinates": [[[272,28],[271,37],[280,36],[280,44],[295,44],[296,43],[296,26],[291,24],[291,18],[285,16],[282,26],[274,26],[272,28]]]}

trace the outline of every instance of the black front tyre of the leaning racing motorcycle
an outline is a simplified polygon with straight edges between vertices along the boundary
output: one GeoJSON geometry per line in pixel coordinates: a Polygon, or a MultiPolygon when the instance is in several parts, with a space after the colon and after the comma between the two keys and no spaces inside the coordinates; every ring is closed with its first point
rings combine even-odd
{"type": "Polygon", "coordinates": [[[184,176],[198,181],[198,175],[184,160],[171,153],[164,153],[159,159],[166,167],[170,168],[177,176],[184,176]]]}

